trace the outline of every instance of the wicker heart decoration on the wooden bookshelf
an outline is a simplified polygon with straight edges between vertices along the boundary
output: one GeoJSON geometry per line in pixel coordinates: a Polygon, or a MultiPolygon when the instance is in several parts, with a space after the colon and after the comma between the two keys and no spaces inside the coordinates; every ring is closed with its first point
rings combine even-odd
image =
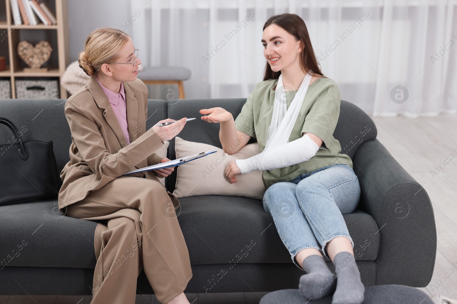
{"type": "Polygon", "coordinates": [[[35,46],[27,40],[23,40],[17,45],[17,54],[32,69],[37,69],[47,62],[52,51],[51,44],[44,40],[35,46]]]}

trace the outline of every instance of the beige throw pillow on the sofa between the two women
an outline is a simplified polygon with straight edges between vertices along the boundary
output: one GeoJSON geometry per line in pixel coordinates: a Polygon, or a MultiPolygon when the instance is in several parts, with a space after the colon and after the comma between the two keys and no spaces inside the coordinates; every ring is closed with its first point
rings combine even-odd
{"type": "MultiPolygon", "coordinates": [[[[177,166],[176,186],[173,194],[180,198],[197,195],[244,196],[262,200],[266,184],[263,171],[252,171],[236,176],[236,183],[230,184],[225,169],[232,160],[244,160],[260,153],[259,144],[247,144],[238,153],[229,155],[210,144],[187,141],[175,137],[176,159],[209,150],[216,153],[177,166]]],[[[175,169],[176,170],[176,169],[175,169]]]]}

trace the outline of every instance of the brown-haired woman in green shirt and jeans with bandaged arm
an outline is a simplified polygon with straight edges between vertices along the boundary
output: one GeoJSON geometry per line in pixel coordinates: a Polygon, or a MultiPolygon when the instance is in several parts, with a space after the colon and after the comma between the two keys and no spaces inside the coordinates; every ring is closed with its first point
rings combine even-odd
{"type": "Polygon", "coordinates": [[[299,283],[303,303],[333,294],[332,304],[360,304],[365,289],[342,216],[356,209],[360,185],[351,158],[333,137],[340,114],[338,85],[320,71],[298,15],[269,18],[261,42],[264,81],[255,85],[238,117],[210,108],[200,111],[202,119],[220,123],[219,139],[228,154],[257,139],[261,153],[232,161],[225,174],[234,183],[238,174],[263,170],[264,209],[292,262],[307,272],[299,283]],[[335,273],[323,255],[334,263],[335,273]]]}

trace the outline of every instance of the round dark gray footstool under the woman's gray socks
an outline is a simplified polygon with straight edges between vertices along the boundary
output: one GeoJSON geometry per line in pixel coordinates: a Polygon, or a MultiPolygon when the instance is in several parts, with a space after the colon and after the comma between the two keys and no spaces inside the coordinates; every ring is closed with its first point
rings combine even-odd
{"type": "MultiPolygon", "coordinates": [[[[299,289],[276,290],[260,299],[260,304],[305,304],[299,289]]],[[[310,299],[308,304],[331,304],[332,297],[310,299]]],[[[404,285],[377,285],[365,288],[362,304],[433,304],[422,290],[404,285]]]]}

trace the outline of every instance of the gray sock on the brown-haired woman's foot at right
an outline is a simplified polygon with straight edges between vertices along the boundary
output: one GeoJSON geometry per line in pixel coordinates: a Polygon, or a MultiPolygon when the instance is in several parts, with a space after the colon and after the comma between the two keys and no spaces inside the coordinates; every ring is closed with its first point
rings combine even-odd
{"type": "Polygon", "coordinates": [[[365,287],[360,280],[360,272],[354,256],[349,252],[339,252],[333,259],[337,283],[332,304],[361,304],[365,287]]]}

